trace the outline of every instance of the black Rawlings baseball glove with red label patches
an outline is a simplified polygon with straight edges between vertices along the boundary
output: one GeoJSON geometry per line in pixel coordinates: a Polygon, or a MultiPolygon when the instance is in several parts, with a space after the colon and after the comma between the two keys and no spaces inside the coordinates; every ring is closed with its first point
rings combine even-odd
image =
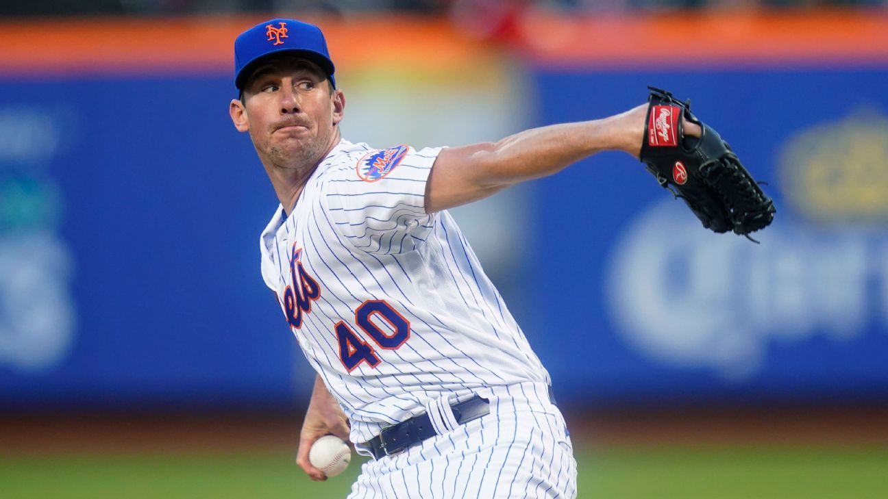
{"type": "Polygon", "coordinates": [[[679,102],[668,91],[648,88],[639,159],[660,185],[685,200],[703,226],[717,233],[733,231],[749,238],[749,233],[771,224],[776,212],[773,201],[718,131],[691,114],[690,100],[679,102]],[[699,139],[685,136],[682,115],[700,125],[699,139]]]}

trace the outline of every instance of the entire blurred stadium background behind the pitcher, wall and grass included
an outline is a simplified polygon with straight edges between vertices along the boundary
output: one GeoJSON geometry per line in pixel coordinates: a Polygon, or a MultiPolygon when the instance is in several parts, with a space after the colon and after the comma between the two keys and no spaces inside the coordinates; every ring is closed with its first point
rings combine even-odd
{"type": "Polygon", "coordinates": [[[344,497],[258,272],[232,44],[325,28],[345,137],[459,145],[692,97],[778,206],[708,234],[601,154],[456,210],[550,369],[580,497],[888,497],[881,1],[0,3],[0,496],[344,497]]]}

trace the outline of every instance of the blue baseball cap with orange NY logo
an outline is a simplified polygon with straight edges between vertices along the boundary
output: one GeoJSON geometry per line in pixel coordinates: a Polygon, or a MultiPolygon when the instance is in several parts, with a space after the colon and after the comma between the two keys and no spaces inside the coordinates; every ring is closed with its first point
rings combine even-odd
{"type": "Polygon", "coordinates": [[[327,51],[327,40],[321,28],[294,19],[273,19],[260,22],[234,40],[234,86],[243,84],[264,59],[281,53],[293,53],[317,64],[333,79],[333,60],[327,51]]]}

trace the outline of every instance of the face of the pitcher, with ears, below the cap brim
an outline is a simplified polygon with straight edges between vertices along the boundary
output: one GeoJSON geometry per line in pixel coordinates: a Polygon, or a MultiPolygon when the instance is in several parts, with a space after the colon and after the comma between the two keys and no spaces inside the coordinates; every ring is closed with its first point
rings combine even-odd
{"type": "Polygon", "coordinates": [[[313,167],[336,145],[345,99],[312,62],[292,56],[258,67],[233,100],[239,131],[250,131],[259,158],[277,168],[313,167]]]}

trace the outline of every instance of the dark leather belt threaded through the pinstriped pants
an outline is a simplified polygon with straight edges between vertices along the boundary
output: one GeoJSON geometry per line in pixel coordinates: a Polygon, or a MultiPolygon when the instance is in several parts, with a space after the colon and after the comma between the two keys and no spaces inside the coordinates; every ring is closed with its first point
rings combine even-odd
{"type": "MultiPolygon", "coordinates": [[[[551,386],[548,392],[549,401],[554,404],[555,397],[552,395],[551,386]]],[[[456,424],[466,424],[490,414],[490,401],[480,395],[475,395],[471,399],[451,405],[450,408],[453,410],[456,424]]],[[[386,455],[398,454],[436,434],[429,415],[423,413],[399,424],[386,426],[376,437],[364,442],[362,445],[373,453],[374,458],[381,459],[386,455]]]]}

